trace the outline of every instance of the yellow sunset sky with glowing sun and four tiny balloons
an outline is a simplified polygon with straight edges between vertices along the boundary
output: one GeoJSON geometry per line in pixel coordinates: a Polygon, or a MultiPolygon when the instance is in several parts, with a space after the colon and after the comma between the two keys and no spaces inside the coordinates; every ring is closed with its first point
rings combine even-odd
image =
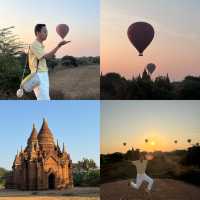
{"type": "Polygon", "coordinates": [[[199,101],[102,101],[101,153],[186,149],[200,142],[199,119],[199,101]]]}

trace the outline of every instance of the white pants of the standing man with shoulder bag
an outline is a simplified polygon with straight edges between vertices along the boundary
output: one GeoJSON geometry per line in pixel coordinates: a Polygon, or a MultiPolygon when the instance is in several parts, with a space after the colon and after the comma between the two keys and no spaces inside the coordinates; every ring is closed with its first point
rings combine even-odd
{"type": "Polygon", "coordinates": [[[38,72],[40,85],[34,88],[37,100],[50,100],[49,97],[49,74],[48,72],[38,72]]]}

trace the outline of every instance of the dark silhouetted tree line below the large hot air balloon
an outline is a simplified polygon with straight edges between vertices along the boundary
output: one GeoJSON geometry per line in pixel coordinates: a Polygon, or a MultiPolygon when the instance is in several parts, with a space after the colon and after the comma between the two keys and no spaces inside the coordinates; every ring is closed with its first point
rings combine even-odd
{"type": "Polygon", "coordinates": [[[172,82],[168,76],[151,79],[146,69],[137,77],[127,80],[118,73],[101,75],[103,100],[181,100],[200,99],[200,76],[187,76],[172,82]]]}

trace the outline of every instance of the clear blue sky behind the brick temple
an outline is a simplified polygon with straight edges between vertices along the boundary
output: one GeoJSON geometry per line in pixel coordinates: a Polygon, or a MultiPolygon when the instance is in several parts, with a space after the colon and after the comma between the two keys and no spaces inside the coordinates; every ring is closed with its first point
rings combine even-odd
{"type": "Polygon", "coordinates": [[[99,166],[99,101],[1,101],[0,167],[11,169],[17,149],[27,144],[35,123],[40,130],[47,119],[54,141],[63,142],[72,162],[93,159],[99,166]]]}

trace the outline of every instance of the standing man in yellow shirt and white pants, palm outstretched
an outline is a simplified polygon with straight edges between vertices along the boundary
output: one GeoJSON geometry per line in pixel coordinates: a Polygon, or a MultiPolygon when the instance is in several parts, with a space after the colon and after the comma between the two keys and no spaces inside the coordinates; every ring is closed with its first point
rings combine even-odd
{"type": "Polygon", "coordinates": [[[31,44],[29,50],[29,68],[31,73],[36,70],[40,79],[40,85],[34,88],[34,93],[37,100],[50,100],[49,96],[49,75],[46,63],[47,58],[51,58],[58,49],[69,43],[70,41],[60,42],[52,51],[45,53],[43,41],[47,39],[47,28],[45,24],[37,24],[35,26],[35,41],[31,44]]]}

